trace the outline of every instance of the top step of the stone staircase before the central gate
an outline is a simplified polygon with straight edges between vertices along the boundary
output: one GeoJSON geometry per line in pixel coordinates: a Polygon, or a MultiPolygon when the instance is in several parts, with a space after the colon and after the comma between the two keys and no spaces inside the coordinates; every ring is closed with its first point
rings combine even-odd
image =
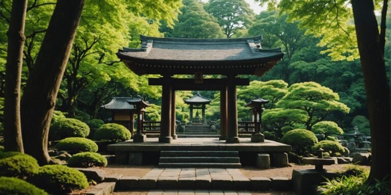
{"type": "Polygon", "coordinates": [[[239,157],[237,151],[160,151],[160,157],[239,157]]]}

